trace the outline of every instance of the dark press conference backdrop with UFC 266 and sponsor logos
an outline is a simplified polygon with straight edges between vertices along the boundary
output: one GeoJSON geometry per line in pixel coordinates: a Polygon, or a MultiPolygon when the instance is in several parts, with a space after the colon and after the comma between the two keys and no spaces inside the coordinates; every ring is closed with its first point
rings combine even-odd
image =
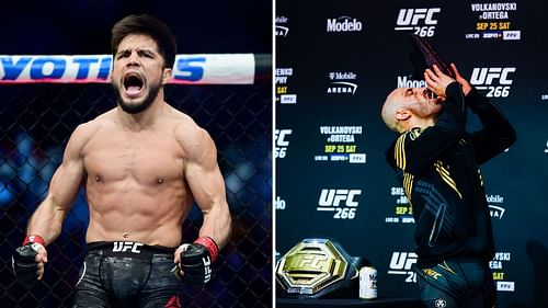
{"type": "Polygon", "coordinates": [[[380,119],[392,89],[423,84],[415,33],[515,126],[515,145],[481,167],[490,267],[500,307],[548,307],[547,14],[545,1],[276,1],[276,252],[332,238],[374,263],[379,296],[416,296],[414,221],[380,119]]]}

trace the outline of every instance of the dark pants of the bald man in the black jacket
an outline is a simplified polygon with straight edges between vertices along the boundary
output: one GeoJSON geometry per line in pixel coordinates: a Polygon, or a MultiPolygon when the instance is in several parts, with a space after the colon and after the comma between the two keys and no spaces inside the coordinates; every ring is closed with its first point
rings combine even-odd
{"type": "Polygon", "coordinates": [[[484,261],[447,260],[434,267],[416,269],[421,299],[427,308],[491,308],[496,292],[484,261]]]}

